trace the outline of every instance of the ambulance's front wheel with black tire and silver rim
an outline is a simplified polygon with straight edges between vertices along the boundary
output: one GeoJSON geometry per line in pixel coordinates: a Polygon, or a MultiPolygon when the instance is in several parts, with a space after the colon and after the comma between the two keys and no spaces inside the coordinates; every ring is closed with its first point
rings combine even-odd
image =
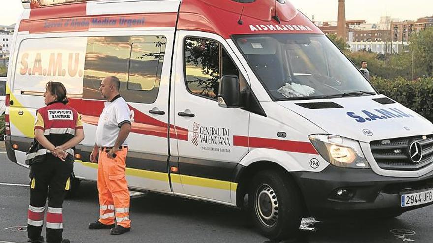
{"type": "Polygon", "coordinates": [[[299,232],[301,198],[293,180],[277,170],[256,174],[249,188],[249,209],[260,233],[272,240],[285,240],[299,232]]]}

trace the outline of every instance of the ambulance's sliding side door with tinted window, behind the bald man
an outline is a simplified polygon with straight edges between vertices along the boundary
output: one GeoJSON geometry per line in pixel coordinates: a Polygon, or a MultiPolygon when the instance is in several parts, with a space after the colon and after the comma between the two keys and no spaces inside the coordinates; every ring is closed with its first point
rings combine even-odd
{"type": "Polygon", "coordinates": [[[127,180],[132,188],[171,192],[167,101],[172,35],[172,31],[158,31],[88,39],[81,106],[84,122],[93,128],[86,130],[83,143],[94,143],[95,125],[104,106],[98,90],[101,80],[111,75],[118,77],[132,122],[126,159],[127,180]]]}

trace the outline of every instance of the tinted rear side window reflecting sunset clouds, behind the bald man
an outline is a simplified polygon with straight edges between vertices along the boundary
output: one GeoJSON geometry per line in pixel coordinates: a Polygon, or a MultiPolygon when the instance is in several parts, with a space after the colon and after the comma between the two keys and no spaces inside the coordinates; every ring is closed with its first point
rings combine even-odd
{"type": "Polygon", "coordinates": [[[154,103],[159,91],[166,38],[163,36],[89,37],[83,98],[102,99],[98,89],[107,76],[121,81],[128,102],[154,103]]]}

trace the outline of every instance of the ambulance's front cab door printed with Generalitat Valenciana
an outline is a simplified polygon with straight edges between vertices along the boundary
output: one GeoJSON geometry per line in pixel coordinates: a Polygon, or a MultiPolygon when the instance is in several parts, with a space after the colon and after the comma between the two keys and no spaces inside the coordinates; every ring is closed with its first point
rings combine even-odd
{"type": "MultiPolygon", "coordinates": [[[[236,75],[241,90],[247,85],[245,71],[226,41],[202,32],[180,31],[177,37],[174,122],[178,135],[179,174],[186,194],[211,201],[233,203],[237,184],[234,169],[248,148],[235,146],[236,136],[247,137],[250,112],[218,106],[219,81],[236,75]],[[225,43],[225,44],[223,44],[225,43]]],[[[175,189],[175,187],[173,187],[175,189]]]]}

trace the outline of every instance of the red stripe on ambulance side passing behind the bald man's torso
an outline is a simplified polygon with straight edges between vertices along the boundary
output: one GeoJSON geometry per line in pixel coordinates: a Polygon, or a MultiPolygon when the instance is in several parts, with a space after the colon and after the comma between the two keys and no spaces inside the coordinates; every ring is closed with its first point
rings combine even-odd
{"type": "MultiPolygon", "coordinates": [[[[104,101],[69,99],[69,105],[81,114],[83,122],[98,125],[99,116],[104,108],[104,101]]],[[[129,109],[134,112],[131,132],[167,137],[167,123],[148,116],[130,105],[129,109]]],[[[188,129],[170,124],[170,138],[188,141],[188,129]]]]}

